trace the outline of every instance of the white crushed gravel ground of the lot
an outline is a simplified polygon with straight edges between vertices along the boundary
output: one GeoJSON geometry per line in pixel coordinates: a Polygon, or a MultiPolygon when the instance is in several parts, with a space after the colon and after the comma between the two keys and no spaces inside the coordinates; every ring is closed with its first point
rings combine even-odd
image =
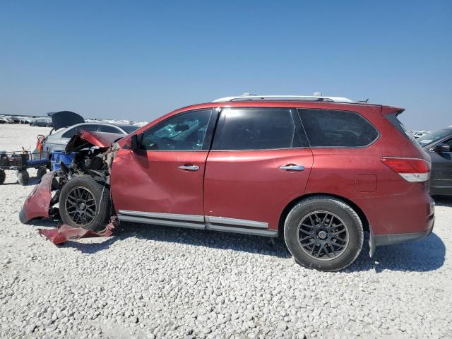
{"type": "MultiPolygon", "coordinates": [[[[1,125],[0,149],[46,130],[1,125]]],[[[452,199],[428,238],[321,273],[280,239],[172,227],[54,246],[18,221],[34,183],[0,187],[0,338],[452,338],[452,199]]]]}

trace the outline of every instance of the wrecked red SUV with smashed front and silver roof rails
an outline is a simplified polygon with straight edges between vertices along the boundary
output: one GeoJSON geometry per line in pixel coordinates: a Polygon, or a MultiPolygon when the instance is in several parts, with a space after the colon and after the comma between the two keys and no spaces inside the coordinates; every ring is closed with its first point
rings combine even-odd
{"type": "Polygon", "coordinates": [[[303,266],[432,232],[429,155],[403,109],[342,97],[242,96],[184,107],[129,136],[82,131],[20,220],[101,230],[119,221],[283,235],[303,266]],[[119,139],[119,140],[118,140],[119,139]],[[58,208],[55,207],[58,205],[58,208]]]}

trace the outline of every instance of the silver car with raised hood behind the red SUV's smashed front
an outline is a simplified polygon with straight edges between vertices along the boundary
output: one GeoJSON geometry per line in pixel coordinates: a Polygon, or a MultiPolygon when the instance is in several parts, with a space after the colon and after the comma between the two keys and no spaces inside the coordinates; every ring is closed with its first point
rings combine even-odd
{"type": "Polygon", "coordinates": [[[52,121],[55,132],[42,141],[42,157],[50,158],[54,151],[64,150],[72,136],[82,130],[127,135],[138,129],[138,126],[128,124],[85,123],[83,117],[69,111],[52,114],[52,121]]]}

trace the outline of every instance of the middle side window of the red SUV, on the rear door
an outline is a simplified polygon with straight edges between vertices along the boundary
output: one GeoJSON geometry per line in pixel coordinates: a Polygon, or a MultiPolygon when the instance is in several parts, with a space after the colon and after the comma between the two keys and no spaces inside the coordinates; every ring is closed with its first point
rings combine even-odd
{"type": "Polygon", "coordinates": [[[307,142],[303,142],[299,136],[290,109],[225,109],[221,114],[224,120],[213,141],[216,150],[269,150],[307,146],[307,142]]]}

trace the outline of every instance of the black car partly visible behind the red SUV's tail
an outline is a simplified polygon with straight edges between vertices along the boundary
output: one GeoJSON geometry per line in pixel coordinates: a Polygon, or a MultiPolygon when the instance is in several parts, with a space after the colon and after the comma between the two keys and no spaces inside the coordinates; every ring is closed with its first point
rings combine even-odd
{"type": "Polygon", "coordinates": [[[452,194],[452,126],[416,140],[432,158],[430,194],[452,194]]]}

